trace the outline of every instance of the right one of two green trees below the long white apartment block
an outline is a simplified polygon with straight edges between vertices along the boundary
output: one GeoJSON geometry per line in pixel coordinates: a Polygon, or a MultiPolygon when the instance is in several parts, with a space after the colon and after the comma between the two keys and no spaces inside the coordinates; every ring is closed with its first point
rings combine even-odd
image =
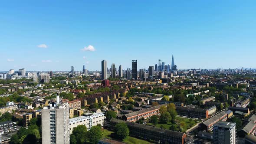
{"type": "Polygon", "coordinates": [[[102,138],[102,131],[99,126],[93,126],[88,132],[88,139],[91,144],[98,144],[98,140],[102,138]]]}

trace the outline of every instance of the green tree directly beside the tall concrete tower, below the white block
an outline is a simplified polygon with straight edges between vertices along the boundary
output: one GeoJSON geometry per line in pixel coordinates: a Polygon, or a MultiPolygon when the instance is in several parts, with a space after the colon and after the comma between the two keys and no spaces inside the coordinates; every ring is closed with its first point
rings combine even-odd
{"type": "Polygon", "coordinates": [[[72,131],[72,135],[75,136],[76,144],[84,144],[86,142],[86,135],[87,135],[86,126],[79,125],[79,126],[75,127],[72,131]]]}

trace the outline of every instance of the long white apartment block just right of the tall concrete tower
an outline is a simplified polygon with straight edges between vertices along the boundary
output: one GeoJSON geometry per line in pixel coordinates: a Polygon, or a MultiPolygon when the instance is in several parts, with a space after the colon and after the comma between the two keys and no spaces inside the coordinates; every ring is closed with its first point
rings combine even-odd
{"type": "Polygon", "coordinates": [[[69,130],[70,134],[72,133],[73,129],[79,125],[85,125],[87,131],[89,131],[92,126],[96,126],[100,124],[103,126],[104,124],[104,114],[103,112],[97,113],[85,113],[83,116],[70,118],[69,119],[69,130]]]}

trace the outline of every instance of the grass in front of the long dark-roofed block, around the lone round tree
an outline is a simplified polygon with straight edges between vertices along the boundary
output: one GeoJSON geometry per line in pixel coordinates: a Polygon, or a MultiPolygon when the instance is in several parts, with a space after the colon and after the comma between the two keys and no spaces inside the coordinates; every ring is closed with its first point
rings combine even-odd
{"type": "MultiPolygon", "coordinates": [[[[103,129],[102,130],[102,138],[108,138],[108,139],[116,140],[116,139],[111,137],[112,133],[114,133],[114,132],[103,129]]],[[[138,139],[136,137],[131,137],[131,136],[126,137],[122,142],[124,142],[126,144],[152,144],[148,141],[144,141],[144,140],[138,139]]]]}

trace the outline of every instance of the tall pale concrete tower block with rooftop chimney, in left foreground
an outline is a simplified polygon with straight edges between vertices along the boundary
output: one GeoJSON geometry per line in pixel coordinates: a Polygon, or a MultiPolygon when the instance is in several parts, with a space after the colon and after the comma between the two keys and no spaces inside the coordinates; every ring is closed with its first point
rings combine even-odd
{"type": "Polygon", "coordinates": [[[69,133],[69,103],[52,101],[43,107],[42,144],[69,144],[69,133]]]}

